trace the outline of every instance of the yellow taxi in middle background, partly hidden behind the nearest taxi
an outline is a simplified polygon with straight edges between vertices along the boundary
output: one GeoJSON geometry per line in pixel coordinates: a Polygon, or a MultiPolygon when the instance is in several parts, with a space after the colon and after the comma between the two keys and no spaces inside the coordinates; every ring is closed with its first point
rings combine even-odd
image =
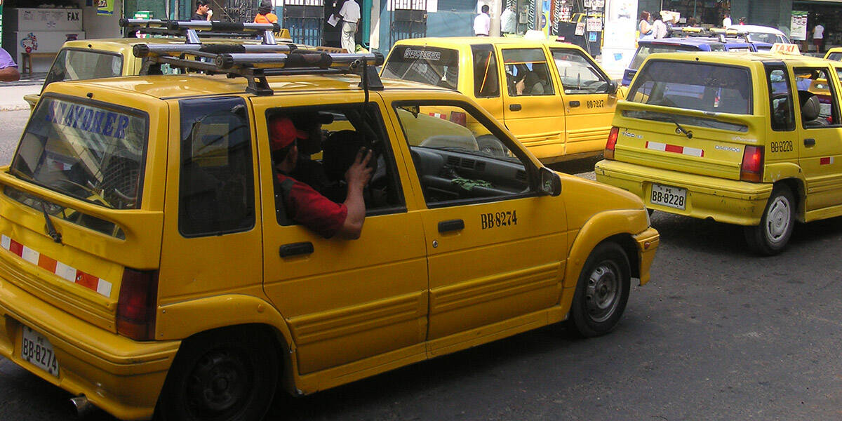
{"type": "MultiPolygon", "coordinates": [[[[418,38],[392,47],[381,77],[456,89],[502,121],[542,163],[597,156],[617,83],[577,45],[523,38],[418,38]]],[[[434,112],[445,120],[461,116],[434,112]]],[[[472,121],[467,126],[472,128],[472,121]]],[[[492,136],[487,152],[508,153],[492,136]]]]}

